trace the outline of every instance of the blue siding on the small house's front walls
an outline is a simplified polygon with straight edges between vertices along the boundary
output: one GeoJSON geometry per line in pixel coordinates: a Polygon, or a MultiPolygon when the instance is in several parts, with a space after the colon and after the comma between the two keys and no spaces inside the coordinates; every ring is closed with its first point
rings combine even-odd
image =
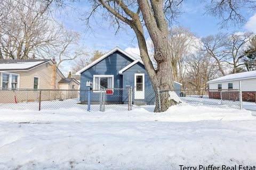
{"type": "MultiPolygon", "coordinates": [[[[81,73],[81,90],[86,89],[86,81],[93,82],[93,75],[114,75],[114,88],[129,88],[127,86],[132,86],[134,89],[134,73],[144,73],[145,74],[145,100],[147,103],[154,103],[155,94],[150,82],[150,79],[145,70],[145,66],[141,63],[134,64],[129,69],[120,75],[118,72],[122,70],[125,66],[132,63],[133,60],[120,52],[114,52],[108,57],[104,58],[99,63],[93,65],[89,69],[81,73]],[[127,85],[127,86],[126,86],[127,85]]],[[[181,90],[181,85],[179,83],[174,84],[175,90],[181,90]]],[[[180,95],[180,91],[177,91],[177,95],[180,95]]],[[[133,96],[134,97],[134,96],[133,96]]],[[[100,93],[92,92],[91,101],[99,101],[100,93]]],[[[80,101],[87,101],[87,92],[80,92],[80,101]]],[[[128,91],[127,90],[114,90],[113,95],[106,95],[106,101],[128,101],[128,91]]]]}

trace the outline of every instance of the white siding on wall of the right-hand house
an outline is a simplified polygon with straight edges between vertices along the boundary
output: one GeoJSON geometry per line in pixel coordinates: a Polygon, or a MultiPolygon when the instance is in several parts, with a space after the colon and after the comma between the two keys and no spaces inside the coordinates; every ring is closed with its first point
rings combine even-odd
{"type": "MultiPolygon", "coordinates": [[[[218,84],[222,84],[222,89],[228,89],[228,83],[233,83],[233,89],[239,89],[239,81],[209,83],[209,89],[218,89],[218,84]]],[[[256,91],[256,79],[241,80],[241,84],[242,91],[256,91]]]]}

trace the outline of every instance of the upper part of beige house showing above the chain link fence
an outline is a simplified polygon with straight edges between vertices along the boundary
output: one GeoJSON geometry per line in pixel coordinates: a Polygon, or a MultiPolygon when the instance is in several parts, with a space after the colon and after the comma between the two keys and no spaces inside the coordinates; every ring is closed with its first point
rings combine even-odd
{"type": "Polygon", "coordinates": [[[75,79],[65,78],[55,61],[0,60],[1,89],[67,89],[64,84],[70,84],[68,89],[79,86],[75,79]]]}

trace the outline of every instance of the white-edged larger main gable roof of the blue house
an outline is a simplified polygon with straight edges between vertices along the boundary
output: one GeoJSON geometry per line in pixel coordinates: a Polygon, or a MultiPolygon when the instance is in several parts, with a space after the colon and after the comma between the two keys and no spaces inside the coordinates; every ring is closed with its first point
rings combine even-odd
{"type": "Polygon", "coordinates": [[[115,47],[113,49],[111,49],[108,53],[102,55],[100,58],[98,58],[97,60],[95,60],[94,62],[86,65],[83,69],[79,70],[78,72],[76,72],[76,75],[81,74],[82,72],[84,72],[85,70],[89,69],[90,67],[92,67],[93,65],[99,63],[100,61],[102,61],[104,58],[108,57],[110,54],[113,54],[114,52],[119,51],[120,53],[126,55],[127,57],[131,58],[133,61],[135,61],[136,59],[131,56],[130,54],[126,53],[124,50],[122,50],[119,47],[115,47]]]}

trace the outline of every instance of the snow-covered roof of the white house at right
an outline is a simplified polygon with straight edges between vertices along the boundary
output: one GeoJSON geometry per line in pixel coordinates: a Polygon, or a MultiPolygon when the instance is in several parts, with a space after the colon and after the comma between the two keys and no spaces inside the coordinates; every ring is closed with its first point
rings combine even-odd
{"type": "Polygon", "coordinates": [[[245,79],[256,79],[256,71],[248,71],[243,73],[229,74],[217,79],[208,81],[207,83],[223,82],[223,81],[235,81],[245,79]]]}

